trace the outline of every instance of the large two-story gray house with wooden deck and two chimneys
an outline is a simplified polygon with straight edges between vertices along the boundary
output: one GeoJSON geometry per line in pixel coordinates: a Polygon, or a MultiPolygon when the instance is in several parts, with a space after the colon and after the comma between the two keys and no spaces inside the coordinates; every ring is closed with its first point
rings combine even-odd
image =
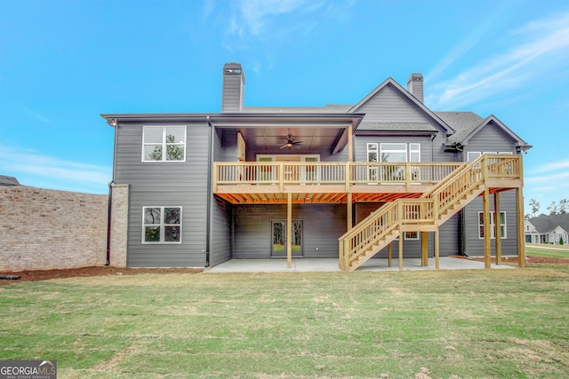
{"type": "Polygon", "coordinates": [[[222,75],[220,113],[101,114],[114,186],[128,186],[126,265],[333,257],[351,271],[392,249],[400,268],[454,255],[489,267],[502,250],[523,265],[531,146],[495,116],[429,109],[421,74],[325,107],[245,107],[241,65],[222,75]]]}

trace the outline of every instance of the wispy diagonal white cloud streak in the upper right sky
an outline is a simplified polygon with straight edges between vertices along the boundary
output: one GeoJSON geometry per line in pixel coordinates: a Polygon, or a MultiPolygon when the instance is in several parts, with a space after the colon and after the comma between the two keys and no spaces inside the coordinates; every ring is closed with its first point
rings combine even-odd
{"type": "Polygon", "coordinates": [[[432,104],[431,107],[462,107],[513,91],[531,81],[537,82],[551,70],[566,67],[569,12],[533,21],[512,31],[509,43],[512,46],[509,51],[491,56],[452,79],[436,84],[426,102],[432,104]]]}

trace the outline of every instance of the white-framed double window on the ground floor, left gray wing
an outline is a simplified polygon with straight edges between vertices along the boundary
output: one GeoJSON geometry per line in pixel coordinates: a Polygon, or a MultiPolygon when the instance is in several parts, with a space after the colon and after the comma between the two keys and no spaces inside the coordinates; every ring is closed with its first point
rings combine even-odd
{"type": "Polygon", "coordinates": [[[144,207],[142,217],[142,242],[181,242],[181,207],[144,207]]]}

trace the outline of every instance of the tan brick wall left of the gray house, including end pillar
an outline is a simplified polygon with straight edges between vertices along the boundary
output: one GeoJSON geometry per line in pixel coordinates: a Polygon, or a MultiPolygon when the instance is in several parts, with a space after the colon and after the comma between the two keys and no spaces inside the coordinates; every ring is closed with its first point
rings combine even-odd
{"type": "MultiPolygon", "coordinates": [[[[128,186],[118,189],[115,199],[119,203],[117,217],[124,217],[124,211],[128,211],[128,186]],[[126,210],[121,202],[126,203],[126,210]]],[[[106,194],[0,187],[0,271],[104,265],[107,214],[106,194]]],[[[121,231],[117,224],[113,239],[119,253],[115,259],[111,253],[111,265],[124,266],[125,237],[123,243],[120,235],[126,229],[121,231]]]]}

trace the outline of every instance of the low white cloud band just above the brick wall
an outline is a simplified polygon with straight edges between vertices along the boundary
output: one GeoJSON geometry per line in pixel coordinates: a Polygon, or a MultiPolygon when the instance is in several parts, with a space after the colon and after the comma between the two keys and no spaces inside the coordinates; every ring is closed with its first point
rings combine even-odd
{"type": "Polygon", "coordinates": [[[68,191],[103,193],[111,168],[64,161],[35,151],[0,146],[0,170],[24,186],[44,186],[68,191]]]}

